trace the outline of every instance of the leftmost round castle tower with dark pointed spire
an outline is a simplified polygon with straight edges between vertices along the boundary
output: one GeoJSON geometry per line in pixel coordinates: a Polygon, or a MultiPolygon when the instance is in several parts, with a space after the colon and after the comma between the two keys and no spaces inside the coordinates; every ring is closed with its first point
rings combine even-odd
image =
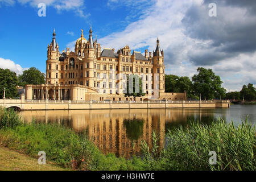
{"type": "Polygon", "coordinates": [[[47,47],[47,61],[46,61],[46,84],[59,84],[59,46],[56,43],[55,29],[52,34],[52,42],[47,47]]]}

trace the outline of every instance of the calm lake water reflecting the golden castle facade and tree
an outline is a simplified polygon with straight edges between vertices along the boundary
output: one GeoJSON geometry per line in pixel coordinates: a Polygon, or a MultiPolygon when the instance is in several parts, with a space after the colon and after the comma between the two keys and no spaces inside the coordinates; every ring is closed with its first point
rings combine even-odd
{"type": "Polygon", "coordinates": [[[140,141],[151,143],[152,131],[160,134],[159,146],[166,140],[165,133],[191,119],[211,123],[218,118],[236,125],[248,115],[248,122],[256,123],[256,105],[231,105],[229,109],[136,109],[136,110],[59,110],[22,111],[26,122],[59,123],[77,132],[86,130],[92,141],[105,154],[129,158],[140,155],[140,141]],[[134,148],[132,147],[134,146],[134,148]]]}

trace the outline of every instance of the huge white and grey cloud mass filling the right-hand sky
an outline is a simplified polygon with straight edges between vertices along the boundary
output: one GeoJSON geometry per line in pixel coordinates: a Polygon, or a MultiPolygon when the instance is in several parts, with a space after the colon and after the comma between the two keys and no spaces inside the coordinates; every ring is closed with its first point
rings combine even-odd
{"type": "MultiPolygon", "coordinates": [[[[122,2],[109,0],[109,5],[122,2]]],[[[153,51],[159,36],[168,74],[192,77],[197,67],[205,67],[221,76],[227,90],[256,84],[256,1],[216,1],[217,17],[208,15],[208,0],[150,2],[125,30],[101,38],[102,46],[119,49],[128,44],[153,51]]]]}

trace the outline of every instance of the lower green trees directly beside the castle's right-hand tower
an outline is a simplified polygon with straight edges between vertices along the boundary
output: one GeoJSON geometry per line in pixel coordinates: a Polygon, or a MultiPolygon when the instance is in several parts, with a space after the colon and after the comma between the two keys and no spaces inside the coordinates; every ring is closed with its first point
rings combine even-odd
{"type": "Polygon", "coordinates": [[[193,90],[192,90],[192,81],[189,77],[179,77],[176,75],[166,75],[165,76],[165,89],[166,92],[187,92],[187,97],[193,97],[193,90]]]}

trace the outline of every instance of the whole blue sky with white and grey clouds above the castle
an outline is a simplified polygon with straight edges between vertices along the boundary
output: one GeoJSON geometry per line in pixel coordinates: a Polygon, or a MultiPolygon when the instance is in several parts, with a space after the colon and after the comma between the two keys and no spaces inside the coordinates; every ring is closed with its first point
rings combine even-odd
{"type": "Polygon", "coordinates": [[[192,77],[210,68],[228,91],[256,85],[255,0],[0,0],[0,68],[46,72],[55,28],[60,52],[84,30],[103,48],[153,51],[159,37],[166,74],[192,77]],[[39,3],[46,16],[39,16],[39,3]],[[210,3],[216,5],[216,16],[210,3]]]}

